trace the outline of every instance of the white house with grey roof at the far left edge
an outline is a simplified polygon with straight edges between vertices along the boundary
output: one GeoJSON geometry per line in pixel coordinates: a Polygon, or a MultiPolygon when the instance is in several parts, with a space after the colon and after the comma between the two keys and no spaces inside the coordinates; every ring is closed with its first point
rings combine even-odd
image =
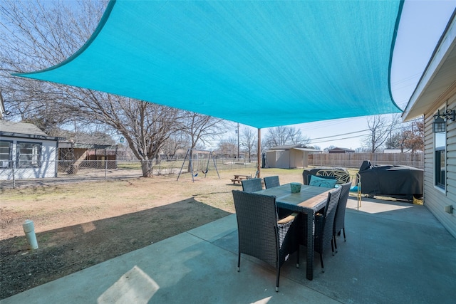
{"type": "Polygon", "coordinates": [[[0,120],[0,180],[56,177],[58,139],[30,123],[0,120]]]}

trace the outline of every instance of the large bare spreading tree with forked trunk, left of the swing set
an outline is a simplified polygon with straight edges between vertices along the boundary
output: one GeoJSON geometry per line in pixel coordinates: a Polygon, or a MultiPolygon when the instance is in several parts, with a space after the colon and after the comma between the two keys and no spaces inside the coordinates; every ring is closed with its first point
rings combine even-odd
{"type": "Polygon", "coordinates": [[[142,176],[151,177],[153,159],[172,135],[182,131],[185,112],[154,103],[118,95],[64,86],[71,108],[79,122],[103,124],[125,137],[136,158],[141,161],[142,176]]]}

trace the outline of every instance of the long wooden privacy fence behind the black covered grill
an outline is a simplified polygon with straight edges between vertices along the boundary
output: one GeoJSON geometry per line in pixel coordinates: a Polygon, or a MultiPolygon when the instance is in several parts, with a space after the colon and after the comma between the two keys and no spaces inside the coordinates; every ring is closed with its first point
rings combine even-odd
{"type": "Polygon", "coordinates": [[[359,168],[363,161],[372,164],[394,164],[424,169],[425,155],[417,153],[325,153],[309,154],[311,167],[359,168]]]}

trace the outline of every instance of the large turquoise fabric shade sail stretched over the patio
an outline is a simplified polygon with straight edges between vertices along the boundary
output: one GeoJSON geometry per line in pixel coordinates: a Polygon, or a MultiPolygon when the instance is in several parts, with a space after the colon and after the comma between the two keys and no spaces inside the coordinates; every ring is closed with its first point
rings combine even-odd
{"type": "Polygon", "coordinates": [[[110,1],[66,61],[19,76],[274,127],[401,112],[403,1],[110,1]]]}

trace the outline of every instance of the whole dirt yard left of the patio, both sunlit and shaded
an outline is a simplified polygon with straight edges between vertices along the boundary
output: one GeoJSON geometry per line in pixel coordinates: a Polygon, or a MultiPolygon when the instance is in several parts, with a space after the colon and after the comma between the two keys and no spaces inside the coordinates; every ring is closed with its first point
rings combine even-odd
{"type": "Polygon", "coordinates": [[[175,175],[1,190],[0,299],[234,212],[226,179],[175,175]],[[33,220],[39,248],[22,229],[33,220]]]}

